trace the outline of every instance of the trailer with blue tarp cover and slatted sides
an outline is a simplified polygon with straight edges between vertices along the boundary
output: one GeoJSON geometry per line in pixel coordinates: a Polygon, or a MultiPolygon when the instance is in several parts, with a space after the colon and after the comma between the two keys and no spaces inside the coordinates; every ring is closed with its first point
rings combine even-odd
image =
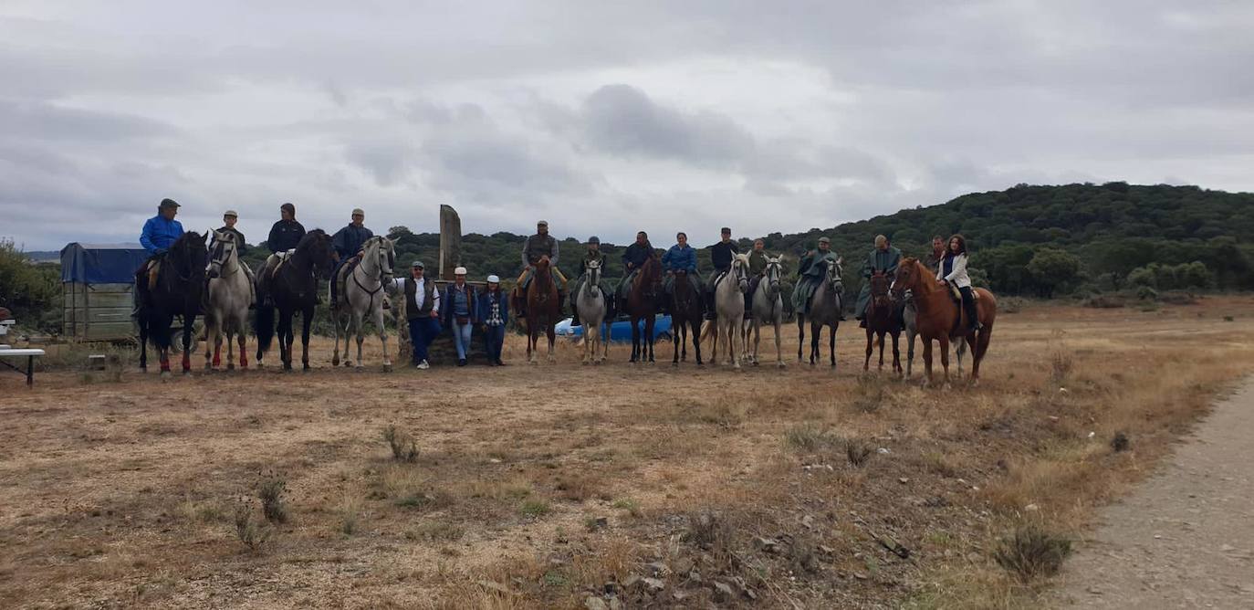
{"type": "Polygon", "coordinates": [[[139,243],[79,243],[61,249],[64,321],[75,341],[122,341],[135,336],[135,271],[148,260],[139,243]]]}

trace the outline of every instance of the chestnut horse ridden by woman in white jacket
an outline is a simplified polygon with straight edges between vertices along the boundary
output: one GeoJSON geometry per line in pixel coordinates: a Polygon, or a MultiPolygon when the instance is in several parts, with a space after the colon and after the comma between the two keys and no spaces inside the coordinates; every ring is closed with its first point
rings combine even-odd
{"type": "MultiPolygon", "coordinates": [[[[997,299],[984,289],[974,289],[979,296],[976,300],[976,310],[981,324],[984,325],[978,333],[969,330],[969,324],[962,305],[954,302],[949,289],[935,279],[933,271],[918,259],[908,257],[897,267],[897,279],[893,280],[893,297],[902,300],[909,290],[914,296],[914,306],[918,310],[915,324],[919,336],[923,338],[923,364],[927,368],[927,384],[932,384],[932,341],[940,341],[940,365],[944,368],[944,382],[949,384],[949,341],[967,341],[971,346],[972,384],[979,383],[979,363],[988,351],[988,341],[993,334],[993,320],[997,319],[997,299]]],[[[961,353],[959,353],[961,358],[961,353]]],[[[962,375],[962,360],[958,360],[958,374],[962,375]]]]}

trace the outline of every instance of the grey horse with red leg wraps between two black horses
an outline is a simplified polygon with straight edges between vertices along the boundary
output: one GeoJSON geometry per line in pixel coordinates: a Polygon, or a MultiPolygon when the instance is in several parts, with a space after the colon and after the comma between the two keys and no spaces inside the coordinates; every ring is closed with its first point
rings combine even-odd
{"type": "Polygon", "coordinates": [[[234,233],[213,231],[213,250],[209,252],[208,308],[204,310],[204,369],[222,365],[222,334],[227,338],[227,370],[234,370],[234,351],[232,343],[240,340],[240,368],[248,368],[248,353],[245,341],[248,338],[248,305],[253,301],[253,286],[248,272],[240,260],[240,245],[234,233]],[[213,339],[213,360],[209,361],[213,339]]]}

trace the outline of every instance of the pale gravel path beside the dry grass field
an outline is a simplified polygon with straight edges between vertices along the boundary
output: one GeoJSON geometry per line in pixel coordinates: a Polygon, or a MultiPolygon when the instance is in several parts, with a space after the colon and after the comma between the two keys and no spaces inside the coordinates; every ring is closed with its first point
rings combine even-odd
{"type": "Polygon", "coordinates": [[[1056,607],[1254,607],[1254,379],[1101,522],[1056,607]]]}

